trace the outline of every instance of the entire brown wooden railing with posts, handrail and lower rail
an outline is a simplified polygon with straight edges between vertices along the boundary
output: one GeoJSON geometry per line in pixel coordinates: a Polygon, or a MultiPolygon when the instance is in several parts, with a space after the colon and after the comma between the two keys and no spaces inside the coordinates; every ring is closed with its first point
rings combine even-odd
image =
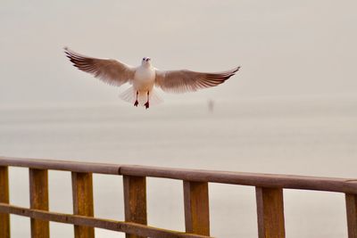
{"type": "Polygon", "coordinates": [[[10,214],[30,217],[31,237],[49,237],[49,221],[74,225],[76,238],[94,227],[127,238],[210,237],[208,183],[255,186],[259,237],[285,237],[283,189],[345,193],[348,237],[357,238],[357,180],[0,157],[0,238],[10,237],[10,214]],[[8,167],[29,168],[30,208],[9,203],[8,167]],[[48,211],[48,170],[71,171],[73,214],[48,211]],[[94,217],[92,174],[123,176],[125,221],[94,217]],[[146,177],[183,181],[186,232],[147,226],[146,177]]]}

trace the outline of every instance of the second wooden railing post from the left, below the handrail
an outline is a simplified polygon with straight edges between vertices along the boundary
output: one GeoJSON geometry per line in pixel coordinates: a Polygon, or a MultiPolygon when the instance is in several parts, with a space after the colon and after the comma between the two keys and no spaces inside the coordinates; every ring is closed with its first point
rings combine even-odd
{"type": "MultiPolygon", "coordinates": [[[[29,205],[31,209],[48,210],[48,171],[29,168],[29,205]]],[[[49,222],[31,218],[31,237],[50,237],[49,222]]]]}

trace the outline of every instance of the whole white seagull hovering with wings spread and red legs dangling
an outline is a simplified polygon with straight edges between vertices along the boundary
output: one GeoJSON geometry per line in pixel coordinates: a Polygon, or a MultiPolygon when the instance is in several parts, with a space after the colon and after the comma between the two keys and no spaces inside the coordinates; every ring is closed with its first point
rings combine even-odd
{"type": "Polygon", "coordinates": [[[132,67],[112,59],[97,59],[75,53],[64,47],[64,53],[79,70],[92,74],[112,86],[129,83],[129,89],[120,94],[120,98],[134,106],[143,105],[148,109],[151,102],[162,100],[154,91],[154,86],[164,92],[185,93],[198,89],[218,86],[236,74],[240,66],[227,71],[205,73],[191,70],[158,70],[152,65],[152,59],[144,57],[141,65],[132,67]],[[145,103],[144,103],[145,102],[145,103]]]}

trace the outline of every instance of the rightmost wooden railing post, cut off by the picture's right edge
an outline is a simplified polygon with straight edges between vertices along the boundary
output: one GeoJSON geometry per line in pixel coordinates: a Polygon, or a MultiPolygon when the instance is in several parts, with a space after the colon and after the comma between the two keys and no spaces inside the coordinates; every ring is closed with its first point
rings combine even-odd
{"type": "Polygon", "coordinates": [[[357,194],[345,194],[348,238],[357,238],[357,194]]]}

